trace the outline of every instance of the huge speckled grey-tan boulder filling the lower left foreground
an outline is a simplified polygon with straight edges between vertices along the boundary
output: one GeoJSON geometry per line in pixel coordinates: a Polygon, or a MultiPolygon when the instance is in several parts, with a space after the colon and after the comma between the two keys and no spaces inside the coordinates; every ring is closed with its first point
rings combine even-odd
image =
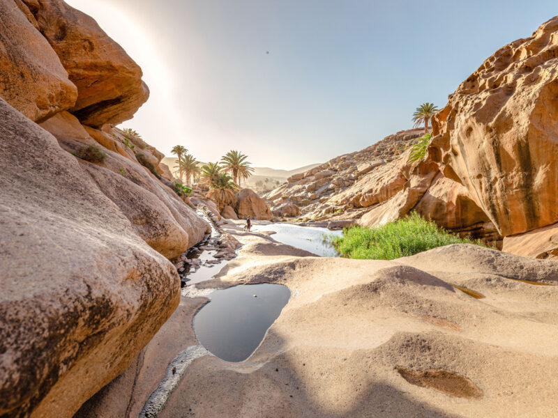
{"type": "Polygon", "coordinates": [[[71,417],[169,318],[180,280],[76,158],[3,100],[0,131],[0,415],[71,417]]]}

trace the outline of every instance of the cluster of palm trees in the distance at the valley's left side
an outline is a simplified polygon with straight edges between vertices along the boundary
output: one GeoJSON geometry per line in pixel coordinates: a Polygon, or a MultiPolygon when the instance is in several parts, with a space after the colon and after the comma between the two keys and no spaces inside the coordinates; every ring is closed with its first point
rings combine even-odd
{"type": "Polygon", "coordinates": [[[188,154],[188,150],[183,146],[176,145],[171,152],[178,157],[175,168],[179,169],[181,180],[186,178],[187,185],[190,185],[191,178],[200,175],[215,189],[237,189],[241,180],[250,177],[254,172],[250,162],[246,161],[248,156],[236,150],[230,150],[220,162],[209,162],[201,167],[201,163],[188,154]]]}

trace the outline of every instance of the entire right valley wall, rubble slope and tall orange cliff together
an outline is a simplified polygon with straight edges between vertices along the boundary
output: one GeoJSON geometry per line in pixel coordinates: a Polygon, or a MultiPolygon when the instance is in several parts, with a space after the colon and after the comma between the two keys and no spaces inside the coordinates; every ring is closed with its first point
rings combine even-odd
{"type": "Polygon", "coordinates": [[[395,143],[388,137],[292,176],[266,196],[273,209],[290,201],[308,219],[355,219],[365,226],[416,210],[458,233],[504,237],[506,251],[555,258],[557,31],[554,17],[468,77],[433,119],[421,162],[409,164],[409,151],[400,153],[410,145],[406,132],[413,134],[403,131],[395,143]],[[386,142],[393,144],[391,161],[375,148],[386,142]]]}

